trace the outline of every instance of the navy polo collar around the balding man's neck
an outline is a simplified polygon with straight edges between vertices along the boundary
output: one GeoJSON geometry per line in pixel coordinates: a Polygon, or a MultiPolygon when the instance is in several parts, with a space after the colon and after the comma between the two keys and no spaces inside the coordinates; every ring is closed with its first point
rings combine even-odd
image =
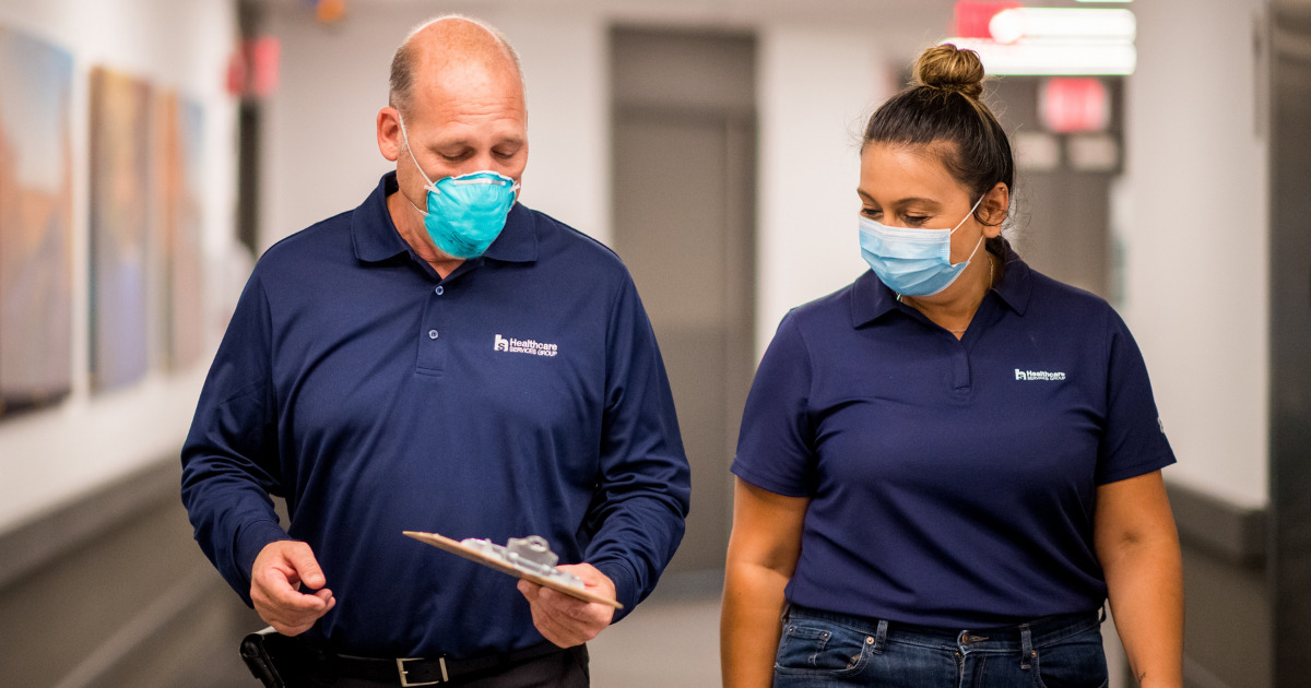
{"type": "MultiPolygon", "coordinates": [[[[399,189],[396,173],[388,172],[378,181],[378,187],[368,194],[368,198],[355,208],[350,232],[355,245],[355,257],[361,261],[382,262],[410,250],[409,242],[401,237],[392,221],[391,212],[387,210],[387,197],[399,189]]],[[[538,259],[536,218],[528,208],[523,207],[523,203],[515,203],[510,208],[505,229],[488,246],[482,257],[509,262],[538,259]]]]}

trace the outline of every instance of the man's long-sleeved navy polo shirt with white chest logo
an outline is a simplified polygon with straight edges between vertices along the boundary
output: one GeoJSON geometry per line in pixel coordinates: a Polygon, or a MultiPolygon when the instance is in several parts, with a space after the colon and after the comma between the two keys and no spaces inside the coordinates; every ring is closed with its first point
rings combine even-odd
{"type": "Polygon", "coordinates": [[[266,544],[309,543],[337,598],[309,637],[346,654],[543,642],[514,578],[406,529],[541,535],[632,608],[682,539],[690,472],[628,271],[515,204],[439,279],[392,224],[395,191],[387,174],[256,266],[182,453],[197,540],[248,603],[266,544]]]}

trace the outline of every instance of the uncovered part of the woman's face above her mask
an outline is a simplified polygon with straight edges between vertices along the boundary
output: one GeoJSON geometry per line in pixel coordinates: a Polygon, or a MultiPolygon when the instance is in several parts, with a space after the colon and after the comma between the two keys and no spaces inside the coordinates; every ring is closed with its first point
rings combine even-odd
{"type": "Polygon", "coordinates": [[[950,257],[952,263],[958,263],[970,257],[981,236],[995,237],[1000,227],[974,218],[970,208],[978,198],[971,198],[947,170],[939,145],[944,144],[868,144],[860,153],[856,194],[860,214],[889,227],[950,229],[960,224],[952,233],[950,257]]]}

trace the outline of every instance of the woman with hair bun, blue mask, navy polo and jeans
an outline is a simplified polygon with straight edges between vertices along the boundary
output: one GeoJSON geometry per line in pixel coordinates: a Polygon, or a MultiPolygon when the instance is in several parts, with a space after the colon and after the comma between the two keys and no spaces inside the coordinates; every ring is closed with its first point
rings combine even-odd
{"type": "Polygon", "coordinates": [[[915,79],[861,145],[872,271],[784,317],[747,400],[724,683],[1099,687],[1109,594],[1139,683],[1181,685],[1142,355],[1000,237],[1013,162],[978,55],[929,48],[915,79]]]}

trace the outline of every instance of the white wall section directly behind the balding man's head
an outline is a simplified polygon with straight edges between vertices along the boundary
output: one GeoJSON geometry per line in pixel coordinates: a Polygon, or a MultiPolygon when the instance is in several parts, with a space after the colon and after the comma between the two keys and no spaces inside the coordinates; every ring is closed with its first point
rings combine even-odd
{"type": "Polygon", "coordinates": [[[395,169],[375,136],[392,52],[413,25],[452,10],[505,31],[523,63],[531,147],[524,204],[608,240],[607,28],[598,16],[404,4],[321,25],[291,4],[277,5],[267,26],[282,41],[282,79],[266,110],[262,246],[354,208],[395,169]]]}

